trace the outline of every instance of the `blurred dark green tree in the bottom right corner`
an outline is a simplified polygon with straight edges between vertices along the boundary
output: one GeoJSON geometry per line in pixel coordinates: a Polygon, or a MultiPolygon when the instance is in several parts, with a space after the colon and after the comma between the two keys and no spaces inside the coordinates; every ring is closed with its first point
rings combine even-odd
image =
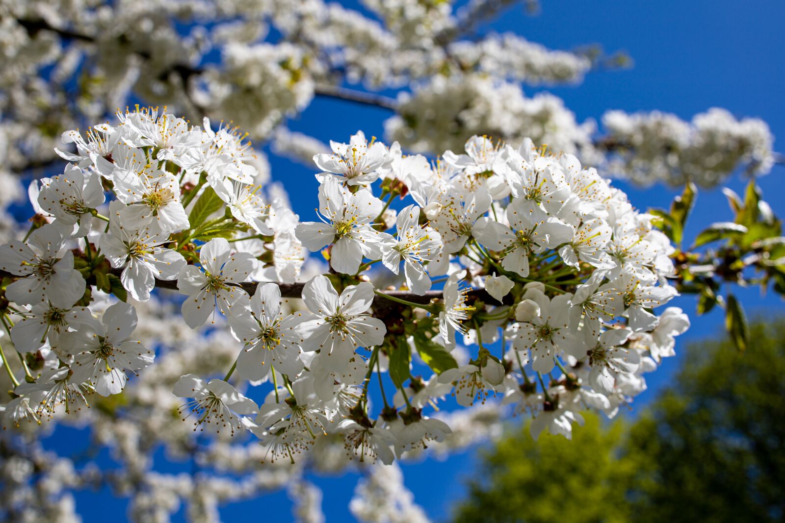
{"type": "Polygon", "coordinates": [[[747,350],[691,347],[676,385],[630,428],[639,521],[785,517],[785,323],[754,325],[747,350]]]}

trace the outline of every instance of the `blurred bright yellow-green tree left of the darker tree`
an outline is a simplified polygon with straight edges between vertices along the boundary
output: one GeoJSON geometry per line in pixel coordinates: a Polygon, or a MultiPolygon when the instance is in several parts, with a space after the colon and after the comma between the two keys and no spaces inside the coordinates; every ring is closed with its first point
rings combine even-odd
{"type": "Polygon", "coordinates": [[[622,435],[620,423],[604,430],[597,416],[586,416],[572,441],[547,432],[534,441],[517,430],[484,456],[483,477],[455,521],[627,521],[626,474],[614,456],[622,435]]]}

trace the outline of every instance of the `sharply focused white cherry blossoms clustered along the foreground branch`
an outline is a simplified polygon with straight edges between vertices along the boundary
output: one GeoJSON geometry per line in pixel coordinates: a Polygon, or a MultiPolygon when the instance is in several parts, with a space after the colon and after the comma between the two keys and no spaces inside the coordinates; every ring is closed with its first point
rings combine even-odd
{"type": "Polygon", "coordinates": [[[534,416],[535,438],[569,437],[586,406],[613,416],[644,390],[689,325],[655,314],[677,292],[653,216],[528,139],[473,136],[433,162],[361,132],[330,142],[313,158],[314,221],[255,183],[234,128],[137,107],[64,141],[64,173],[31,184],[30,231],[0,246],[2,323],[25,372],[0,352],[16,386],[5,426],[152,372],[159,342],[136,335],[133,303],[156,287],[177,289],[188,328],[234,340],[222,379],[197,367],[174,383],[178,415],[219,438],[248,431],[284,462],[336,438],[360,461],[422,452],[451,434],[432,416],[448,396],[496,397],[534,416]],[[330,270],[305,278],[307,251],[330,270]]]}

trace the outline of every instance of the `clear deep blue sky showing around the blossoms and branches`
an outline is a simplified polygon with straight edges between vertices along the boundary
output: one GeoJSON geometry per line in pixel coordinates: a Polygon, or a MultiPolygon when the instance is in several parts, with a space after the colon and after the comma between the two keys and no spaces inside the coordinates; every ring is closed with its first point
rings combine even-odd
{"type": "MultiPolygon", "coordinates": [[[[341,2],[356,6],[355,2],[341,2]]],[[[690,119],[710,107],[725,107],[737,117],[757,116],[769,123],[772,133],[782,137],[775,150],[785,151],[785,2],[626,2],[606,0],[560,0],[543,2],[539,16],[524,16],[520,8],[511,9],[491,27],[495,31],[513,31],[533,42],[553,49],[571,49],[579,45],[601,44],[608,53],[623,49],[635,60],[629,71],[597,71],[587,75],[581,85],[551,89],[526,89],[528,94],[548,90],[564,98],[579,121],[599,120],[608,109],[650,111],[658,109],[690,119]]],[[[349,135],[363,129],[368,135],[383,136],[382,122],[389,114],[371,107],[360,107],[336,100],[316,99],[291,122],[291,128],[321,140],[348,141],[349,135]]],[[[316,187],[313,169],[283,158],[271,157],[272,178],[282,181],[290,191],[295,212],[302,220],[313,220],[316,187]]],[[[785,168],[776,166],[769,176],[760,179],[765,199],[774,211],[785,215],[782,201],[785,168]]],[[[743,190],[744,180],[735,178],[728,186],[743,190]]],[[[666,207],[675,192],[665,187],[641,190],[616,183],[641,209],[666,207]]],[[[731,219],[725,196],[718,189],[701,191],[695,212],[688,222],[686,238],[715,221],[731,219]]],[[[773,317],[785,307],[774,294],[761,297],[750,289],[738,292],[750,315],[773,317]]],[[[692,329],[682,336],[677,351],[682,354],[690,341],[721,332],[721,311],[698,318],[694,315],[692,296],[677,298],[673,304],[692,316],[692,329]]],[[[635,403],[640,410],[652,401],[656,391],[668,383],[677,371],[680,358],[666,360],[663,367],[649,375],[649,390],[635,403]]],[[[622,416],[635,416],[635,412],[622,416]]],[[[58,430],[50,438],[54,448],[66,449],[81,438],[81,432],[58,430]]],[[[82,442],[81,446],[84,446],[82,442]]],[[[162,456],[157,456],[162,460],[162,456]]],[[[466,478],[473,473],[475,452],[463,452],[445,462],[433,459],[403,466],[406,484],[416,501],[433,520],[444,521],[456,500],[466,493],[466,478]]],[[[183,470],[181,466],[176,469],[183,470]]],[[[162,470],[173,470],[162,466],[162,470]]],[[[356,483],[356,474],[337,478],[309,477],[323,488],[323,510],[327,521],[353,521],[348,504],[356,483]]],[[[106,510],[118,521],[124,518],[126,502],[111,499],[108,492],[84,492],[77,496],[85,521],[104,516],[106,510]],[[99,515],[100,514],[100,515],[99,515]]],[[[290,502],[285,493],[262,496],[221,509],[225,521],[239,518],[279,518],[290,520],[290,502]]]]}

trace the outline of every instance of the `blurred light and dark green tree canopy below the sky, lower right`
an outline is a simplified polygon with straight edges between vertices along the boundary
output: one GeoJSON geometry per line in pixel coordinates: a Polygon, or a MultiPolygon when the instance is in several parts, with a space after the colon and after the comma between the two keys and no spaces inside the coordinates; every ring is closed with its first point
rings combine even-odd
{"type": "Polygon", "coordinates": [[[685,351],[629,426],[586,416],[573,441],[517,429],[484,455],[464,521],[783,521],[785,321],[685,351]]]}

